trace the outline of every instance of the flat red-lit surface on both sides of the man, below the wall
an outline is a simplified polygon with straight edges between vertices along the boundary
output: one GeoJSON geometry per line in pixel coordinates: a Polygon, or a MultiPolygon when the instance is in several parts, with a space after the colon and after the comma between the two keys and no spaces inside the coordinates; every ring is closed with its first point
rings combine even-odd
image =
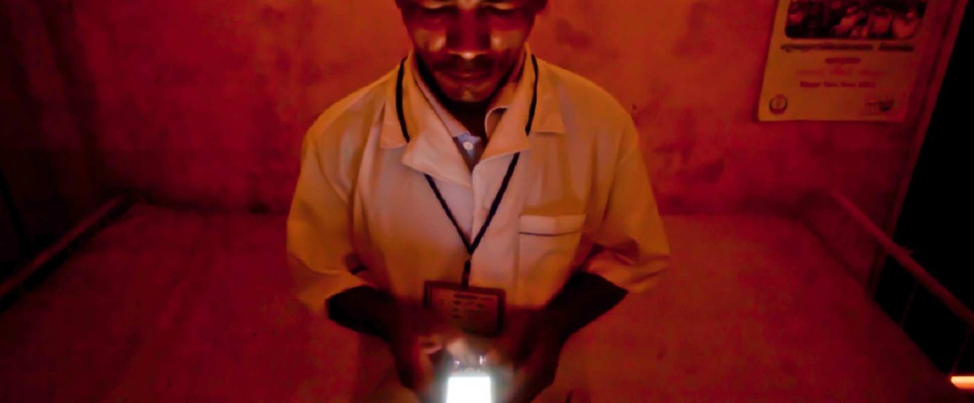
{"type": "MultiPolygon", "coordinates": [[[[965,401],[801,225],[665,223],[673,268],[543,399],[965,401]]],[[[360,400],[389,354],[290,298],[283,239],[282,216],[134,206],[0,312],[0,401],[360,400]]]]}

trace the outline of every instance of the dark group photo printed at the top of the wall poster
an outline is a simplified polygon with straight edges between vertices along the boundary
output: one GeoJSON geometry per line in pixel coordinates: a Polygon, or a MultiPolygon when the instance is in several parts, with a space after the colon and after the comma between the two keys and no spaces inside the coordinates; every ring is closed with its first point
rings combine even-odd
{"type": "Polygon", "coordinates": [[[791,0],[785,35],[792,39],[910,39],[927,0],[791,0]]]}

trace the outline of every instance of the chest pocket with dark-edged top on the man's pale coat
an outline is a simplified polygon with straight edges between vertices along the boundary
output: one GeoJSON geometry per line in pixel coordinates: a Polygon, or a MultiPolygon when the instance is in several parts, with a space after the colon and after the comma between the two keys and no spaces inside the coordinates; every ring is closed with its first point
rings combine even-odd
{"type": "Polygon", "coordinates": [[[522,215],[518,234],[518,271],[522,280],[567,275],[579,246],[584,214],[522,215]]]}

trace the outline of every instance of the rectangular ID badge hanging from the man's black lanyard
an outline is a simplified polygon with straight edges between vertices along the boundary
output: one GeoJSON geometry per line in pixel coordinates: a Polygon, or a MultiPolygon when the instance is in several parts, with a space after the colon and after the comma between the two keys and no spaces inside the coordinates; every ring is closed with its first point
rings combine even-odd
{"type": "Polygon", "coordinates": [[[423,304],[473,335],[497,336],[504,324],[505,292],[500,288],[464,288],[448,281],[427,281],[423,304]]]}

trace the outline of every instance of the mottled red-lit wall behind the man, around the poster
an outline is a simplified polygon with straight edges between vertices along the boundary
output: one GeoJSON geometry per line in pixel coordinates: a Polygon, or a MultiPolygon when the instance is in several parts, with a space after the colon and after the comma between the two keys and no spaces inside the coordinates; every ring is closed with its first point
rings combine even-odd
{"type": "MultiPolygon", "coordinates": [[[[931,1],[924,23],[937,42],[902,124],[756,122],[773,1],[552,0],[531,42],[631,107],[665,212],[794,214],[809,190],[829,186],[881,222],[911,168],[953,2],[931,1]]],[[[75,130],[92,136],[102,176],[193,207],[286,210],[304,130],[407,49],[393,0],[11,0],[8,9],[19,18],[38,7],[47,29],[20,24],[18,34],[50,34],[63,48],[68,79],[80,83],[68,96],[84,99],[75,113],[85,128],[75,130]]],[[[25,57],[31,69],[46,62],[25,57]]],[[[33,74],[38,86],[57,72],[33,74]]],[[[44,105],[65,96],[43,90],[34,95],[44,105]]]]}

